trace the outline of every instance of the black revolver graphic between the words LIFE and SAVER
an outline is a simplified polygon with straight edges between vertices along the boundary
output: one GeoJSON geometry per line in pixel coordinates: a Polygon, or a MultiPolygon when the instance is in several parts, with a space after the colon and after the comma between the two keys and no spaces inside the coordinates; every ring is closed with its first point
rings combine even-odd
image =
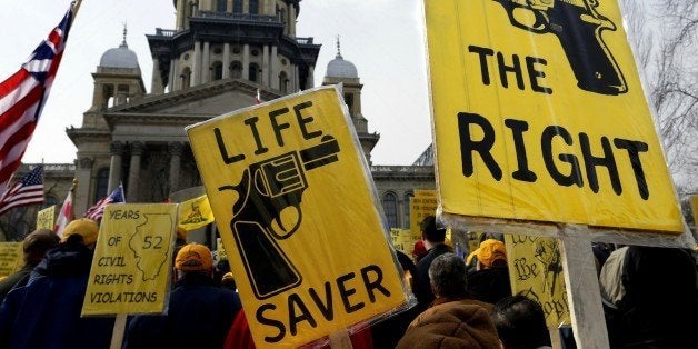
{"type": "Polygon", "coordinates": [[[288,239],[300,227],[306,171],[336,162],[338,152],[337,140],[325,136],[318,146],[252,163],[240,183],[218,188],[240,196],[232,207],[230,228],[258,299],[300,285],[300,273],[276,240],[288,239]],[[291,208],[298,218],[292,227],[286,227],[281,211],[291,208]]]}

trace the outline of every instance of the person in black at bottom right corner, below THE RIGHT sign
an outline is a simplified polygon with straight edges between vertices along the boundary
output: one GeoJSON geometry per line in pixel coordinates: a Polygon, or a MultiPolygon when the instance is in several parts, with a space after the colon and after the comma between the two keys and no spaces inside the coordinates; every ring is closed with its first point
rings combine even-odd
{"type": "MultiPolygon", "coordinates": [[[[615,253],[607,259],[601,277],[615,253]]],[[[599,280],[606,283],[602,295],[608,293],[602,297],[610,299],[605,305],[616,307],[605,308],[611,348],[686,348],[698,342],[694,256],[679,248],[647,246],[628,246],[621,255],[621,290],[612,291],[612,280],[599,280]]]]}

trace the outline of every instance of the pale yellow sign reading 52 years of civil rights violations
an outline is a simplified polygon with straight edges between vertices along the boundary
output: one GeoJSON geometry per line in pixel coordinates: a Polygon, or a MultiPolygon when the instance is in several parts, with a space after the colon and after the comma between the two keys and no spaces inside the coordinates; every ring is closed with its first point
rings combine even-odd
{"type": "Polygon", "coordinates": [[[177,203],[108,205],[82,315],[164,311],[176,229],[177,203]]]}

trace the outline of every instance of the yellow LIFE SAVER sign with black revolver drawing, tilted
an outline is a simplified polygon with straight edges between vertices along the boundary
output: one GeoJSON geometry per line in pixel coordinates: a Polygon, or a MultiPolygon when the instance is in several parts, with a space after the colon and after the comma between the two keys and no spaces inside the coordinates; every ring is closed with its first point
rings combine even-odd
{"type": "Polygon", "coordinates": [[[325,87],[187,128],[258,347],[406,302],[368,164],[325,87]]]}

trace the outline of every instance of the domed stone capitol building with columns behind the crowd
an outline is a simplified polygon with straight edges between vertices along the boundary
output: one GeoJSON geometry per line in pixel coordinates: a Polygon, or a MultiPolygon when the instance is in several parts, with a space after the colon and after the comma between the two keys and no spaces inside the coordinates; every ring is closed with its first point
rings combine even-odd
{"type": "MultiPolygon", "coordinates": [[[[67,129],[78,149],[76,215],[119,183],[128,202],[162,202],[192,192],[202,183],[185,127],[250,107],[257,91],[268,101],[312,88],[321,46],[296,37],[300,2],[174,0],[174,29],[157,28],[147,36],[153,63],[150,92],[124,29],[121,44],[107,50],[92,73],[92,104],[81,127],[67,129]]],[[[339,42],[322,80],[337,83],[371,163],[380,136],[368,130],[363,86],[339,42]]],[[[389,225],[407,228],[413,190],[435,188],[432,166],[371,163],[371,171],[389,225]]],[[[61,186],[70,189],[70,182],[61,186]]]]}

